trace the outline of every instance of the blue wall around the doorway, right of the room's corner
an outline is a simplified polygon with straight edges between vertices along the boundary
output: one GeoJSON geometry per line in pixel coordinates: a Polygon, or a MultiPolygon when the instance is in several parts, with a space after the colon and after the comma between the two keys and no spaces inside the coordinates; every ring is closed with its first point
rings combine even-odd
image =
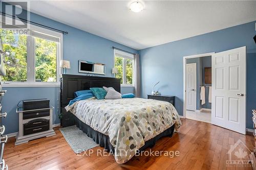
{"type": "MultiPolygon", "coordinates": [[[[251,76],[255,79],[255,68],[252,63],[249,63],[254,58],[248,55],[248,53],[256,53],[256,44],[252,38],[255,34],[255,21],[253,21],[140,50],[142,97],[146,98],[146,94],[151,93],[152,84],[160,81],[157,90],[162,94],[175,95],[176,109],[180,115],[183,115],[183,56],[218,53],[246,46],[248,70],[246,107],[255,107],[256,99],[251,94],[255,94],[256,88],[255,84],[250,83],[255,80],[249,79],[251,76]]],[[[252,125],[251,111],[248,109],[247,128],[252,129],[252,125]]]]}

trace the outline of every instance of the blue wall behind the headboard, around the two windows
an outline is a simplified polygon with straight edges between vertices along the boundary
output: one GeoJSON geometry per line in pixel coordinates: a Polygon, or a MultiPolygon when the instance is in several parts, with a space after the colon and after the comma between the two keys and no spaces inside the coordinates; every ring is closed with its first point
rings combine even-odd
{"type": "MultiPolygon", "coordinates": [[[[63,59],[69,60],[71,63],[71,69],[67,69],[67,74],[83,75],[78,73],[78,60],[81,59],[106,64],[105,76],[113,77],[114,75],[111,74],[111,69],[114,66],[114,52],[112,46],[132,53],[138,53],[138,51],[133,48],[78,30],[34,13],[31,13],[30,20],[69,32],[69,34],[63,35],[63,59]]],[[[55,107],[53,124],[59,123],[57,117],[57,97],[59,87],[5,87],[4,89],[8,90],[2,101],[3,111],[8,113],[7,118],[3,119],[3,124],[6,126],[6,134],[18,131],[16,105],[18,101],[24,99],[50,99],[51,104],[55,107]]],[[[134,88],[122,87],[121,91],[123,93],[133,93],[134,88]]]]}

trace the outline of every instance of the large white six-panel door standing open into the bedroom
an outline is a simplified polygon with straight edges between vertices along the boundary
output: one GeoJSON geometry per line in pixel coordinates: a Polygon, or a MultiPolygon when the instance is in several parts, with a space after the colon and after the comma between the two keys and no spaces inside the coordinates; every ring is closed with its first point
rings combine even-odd
{"type": "Polygon", "coordinates": [[[211,57],[211,123],[246,134],[246,47],[211,57]]]}

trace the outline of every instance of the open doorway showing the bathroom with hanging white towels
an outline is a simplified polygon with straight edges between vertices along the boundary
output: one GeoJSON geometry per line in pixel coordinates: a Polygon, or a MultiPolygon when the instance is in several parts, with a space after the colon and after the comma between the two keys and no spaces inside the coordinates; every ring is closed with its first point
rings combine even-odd
{"type": "Polygon", "coordinates": [[[186,59],[186,118],[211,123],[211,55],[186,59]]]}

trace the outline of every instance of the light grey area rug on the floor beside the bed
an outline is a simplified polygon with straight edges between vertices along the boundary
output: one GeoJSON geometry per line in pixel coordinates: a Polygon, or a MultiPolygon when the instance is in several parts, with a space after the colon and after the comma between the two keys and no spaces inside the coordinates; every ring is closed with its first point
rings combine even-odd
{"type": "Polygon", "coordinates": [[[99,145],[76,126],[60,128],[59,130],[76,154],[85,152],[99,145]]]}

